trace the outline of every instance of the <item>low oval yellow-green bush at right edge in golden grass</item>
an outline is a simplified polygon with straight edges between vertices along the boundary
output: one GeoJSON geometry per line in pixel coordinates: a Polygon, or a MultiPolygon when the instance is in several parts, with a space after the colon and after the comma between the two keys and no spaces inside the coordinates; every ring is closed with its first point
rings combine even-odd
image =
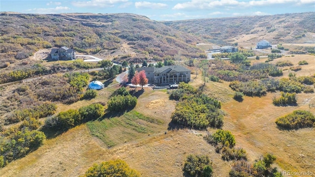
{"type": "Polygon", "coordinates": [[[313,127],[315,117],[312,113],[304,110],[296,110],[284,117],[277,118],[276,124],[288,129],[313,127]]]}

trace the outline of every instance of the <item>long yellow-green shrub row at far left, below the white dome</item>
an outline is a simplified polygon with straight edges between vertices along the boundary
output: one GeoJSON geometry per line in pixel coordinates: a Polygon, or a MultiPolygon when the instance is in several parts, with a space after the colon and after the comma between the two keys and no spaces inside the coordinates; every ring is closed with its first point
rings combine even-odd
{"type": "Polygon", "coordinates": [[[46,102],[32,108],[17,110],[13,112],[13,114],[9,118],[7,118],[6,121],[8,124],[10,124],[20,122],[26,118],[45,118],[49,115],[55,114],[56,109],[56,104],[46,102]]]}

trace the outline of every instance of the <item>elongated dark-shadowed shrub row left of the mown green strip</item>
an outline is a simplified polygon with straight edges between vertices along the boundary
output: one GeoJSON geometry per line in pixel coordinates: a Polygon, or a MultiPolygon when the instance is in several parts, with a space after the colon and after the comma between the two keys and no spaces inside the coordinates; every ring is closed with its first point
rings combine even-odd
{"type": "Polygon", "coordinates": [[[81,107],[79,110],[70,109],[55,117],[47,118],[45,127],[66,131],[81,123],[101,117],[103,111],[104,108],[99,103],[81,107]]]}

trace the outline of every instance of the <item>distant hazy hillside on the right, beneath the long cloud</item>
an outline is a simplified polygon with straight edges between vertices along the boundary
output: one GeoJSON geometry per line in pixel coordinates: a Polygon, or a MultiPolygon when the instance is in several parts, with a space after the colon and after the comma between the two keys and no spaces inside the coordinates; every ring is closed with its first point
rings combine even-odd
{"type": "Polygon", "coordinates": [[[164,22],[213,43],[314,43],[315,12],[164,22]]]}

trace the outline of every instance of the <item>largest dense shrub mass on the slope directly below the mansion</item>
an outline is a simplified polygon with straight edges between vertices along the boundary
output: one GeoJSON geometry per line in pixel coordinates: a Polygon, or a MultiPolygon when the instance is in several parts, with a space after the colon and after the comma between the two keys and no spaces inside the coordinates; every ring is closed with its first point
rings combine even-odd
{"type": "Polygon", "coordinates": [[[180,83],[179,88],[180,92],[175,90],[170,96],[181,100],[172,113],[173,122],[198,129],[222,126],[223,116],[220,112],[221,103],[218,100],[198,93],[189,84],[180,83]]]}

